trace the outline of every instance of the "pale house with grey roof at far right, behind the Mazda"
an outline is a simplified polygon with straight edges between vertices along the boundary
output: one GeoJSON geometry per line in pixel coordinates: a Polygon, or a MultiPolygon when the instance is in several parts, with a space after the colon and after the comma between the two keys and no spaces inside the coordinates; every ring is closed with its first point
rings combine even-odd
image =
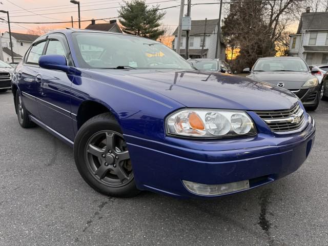
{"type": "Polygon", "coordinates": [[[328,63],[328,12],[302,13],[296,34],[290,35],[290,55],[308,65],[328,63]]]}

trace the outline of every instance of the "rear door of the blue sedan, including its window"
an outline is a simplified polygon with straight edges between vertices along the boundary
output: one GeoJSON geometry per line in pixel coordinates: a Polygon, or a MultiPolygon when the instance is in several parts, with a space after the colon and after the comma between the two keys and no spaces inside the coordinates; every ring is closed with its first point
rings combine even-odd
{"type": "Polygon", "coordinates": [[[18,87],[22,93],[25,108],[36,118],[40,118],[36,97],[38,96],[36,76],[39,72],[38,60],[43,54],[46,40],[40,40],[32,45],[26,54],[23,65],[17,71],[18,87]]]}

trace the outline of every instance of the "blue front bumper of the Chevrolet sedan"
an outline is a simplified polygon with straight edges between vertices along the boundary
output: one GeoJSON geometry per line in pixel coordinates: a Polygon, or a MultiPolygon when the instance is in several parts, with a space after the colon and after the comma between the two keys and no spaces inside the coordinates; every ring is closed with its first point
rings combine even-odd
{"type": "Polygon", "coordinates": [[[209,198],[222,195],[192,193],[182,180],[207,185],[249,180],[252,189],[293,173],[314,144],[314,121],[306,124],[298,133],[277,136],[259,132],[256,137],[238,140],[204,142],[167,137],[167,142],[175,142],[167,144],[130,135],[125,139],[138,189],[209,198]]]}

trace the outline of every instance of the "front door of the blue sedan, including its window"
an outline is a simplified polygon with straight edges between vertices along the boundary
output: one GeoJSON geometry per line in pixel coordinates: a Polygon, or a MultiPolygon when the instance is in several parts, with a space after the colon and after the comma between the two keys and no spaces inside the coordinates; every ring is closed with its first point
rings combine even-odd
{"type": "MultiPolygon", "coordinates": [[[[52,54],[64,55],[68,64],[72,63],[64,35],[48,36],[45,55],[52,54]]],[[[72,81],[73,76],[63,71],[40,68],[36,82],[41,120],[70,140],[74,139],[70,94],[72,81]]]]}

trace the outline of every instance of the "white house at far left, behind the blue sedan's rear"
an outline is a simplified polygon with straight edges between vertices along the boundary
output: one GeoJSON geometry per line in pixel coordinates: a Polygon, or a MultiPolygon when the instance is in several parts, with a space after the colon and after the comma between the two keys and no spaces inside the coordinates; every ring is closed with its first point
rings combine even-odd
{"type": "MultiPolygon", "coordinates": [[[[38,37],[38,35],[11,32],[14,62],[19,62],[22,59],[22,57],[25,55],[33,41],[38,37]]],[[[11,63],[9,32],[5,32],[1,36],[1,42],[4,54],[4,61],[11,63]]]]}

